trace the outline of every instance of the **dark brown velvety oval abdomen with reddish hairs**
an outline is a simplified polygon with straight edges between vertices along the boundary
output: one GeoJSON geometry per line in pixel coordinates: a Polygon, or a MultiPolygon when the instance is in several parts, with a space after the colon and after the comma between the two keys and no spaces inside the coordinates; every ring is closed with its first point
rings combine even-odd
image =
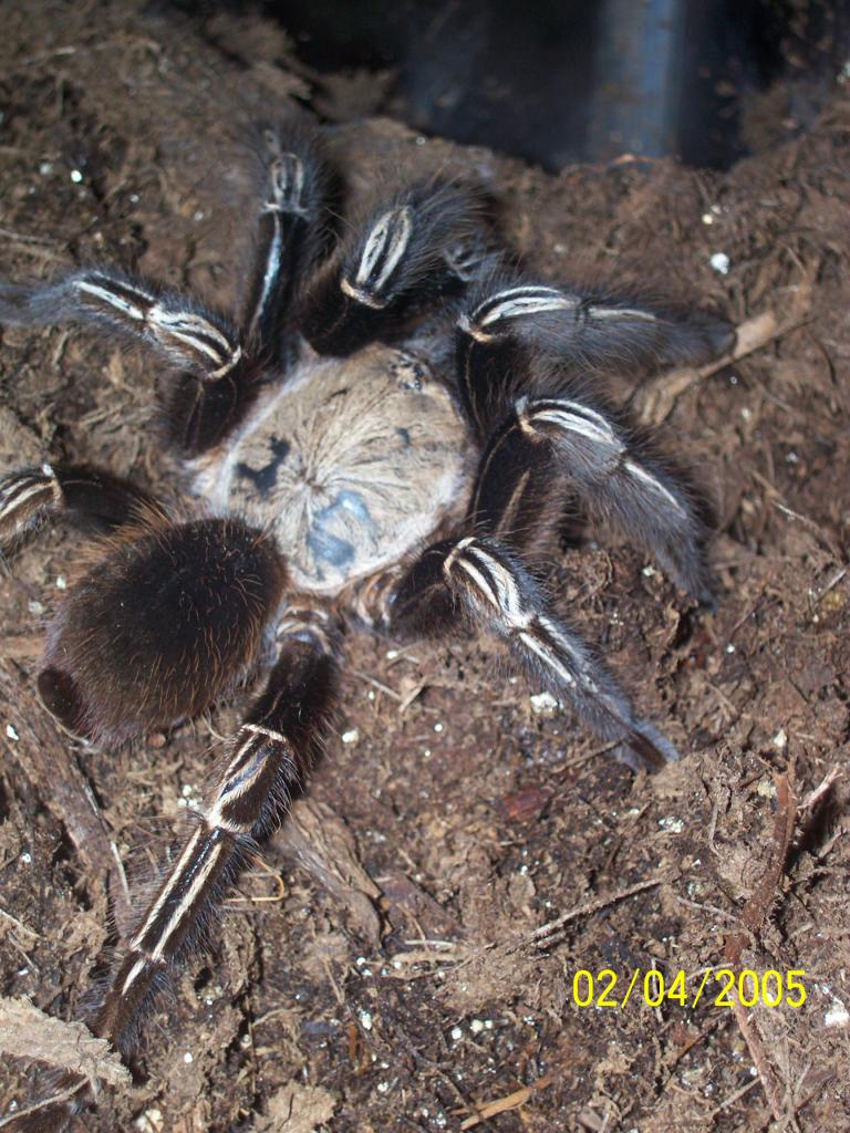
{"type": "Polygon", "coordinates": [[[282,563],[236,520],[122,534],[68,593],[39,679],[71,731],[122,740],[196,716],[254,659],[282,563]]]}

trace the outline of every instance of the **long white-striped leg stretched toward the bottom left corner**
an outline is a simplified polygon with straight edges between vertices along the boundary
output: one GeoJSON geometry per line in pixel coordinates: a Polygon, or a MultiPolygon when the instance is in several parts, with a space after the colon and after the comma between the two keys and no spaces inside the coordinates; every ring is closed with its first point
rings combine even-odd
{"type": "MultiPolygon", "coordinates": [[[[321,753],[337,692],[337,633],[321,615],[291,611],[277,646],[265,690],[228,742],[197,826],[142,914],[94,1022],[95,1033],[125,1057],[169,972],[203,937],[246,857],[286,817],[321,753]]],[[[74,1085],[66,1076],[58,1089],[74,1085]]],[[[73,1098],[37,1111],[19,1133],[58,1133],[92,1100],[84,1081],[76,1087],[73,1098]]]]}

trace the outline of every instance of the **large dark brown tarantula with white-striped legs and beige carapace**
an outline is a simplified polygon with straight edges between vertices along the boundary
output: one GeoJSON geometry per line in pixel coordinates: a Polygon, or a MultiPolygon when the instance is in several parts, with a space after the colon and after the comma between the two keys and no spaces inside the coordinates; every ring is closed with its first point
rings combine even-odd
{"type": "MultiPolygon", "coordinates": [[[[165,363],[162,436],[182,480],[179,504],[88,467],[0,482],[5,550],[46,520],[107,528],[50,622],[45,707],[117,743],[262,682],[94,1020],[125,1058],[317,758],[347,627],[495,634],[618,758],[652,769],[674,747],[539,581],[570,500],[711,600],[697,502],[588,375],[703,363],[730,348],[729,324],[525,275],[494,248],[477,190],[439,177],[401,185],[329,249],[318,129],[258,139],[236,322],[105,269],[0,287],[0,322],[93,323],[165,363]]],[[[84,1083],[59,1084],[70,1098],[20,1128],[54,1131],[91,1102],[84,1083]]]]}

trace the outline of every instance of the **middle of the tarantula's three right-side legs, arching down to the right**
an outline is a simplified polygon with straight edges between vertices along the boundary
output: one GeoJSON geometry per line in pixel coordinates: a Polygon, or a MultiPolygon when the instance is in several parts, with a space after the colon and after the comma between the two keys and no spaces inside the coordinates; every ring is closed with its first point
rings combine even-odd
{"type": "Polygon", "coordinates": [[[564,485],[594,519],[618,526],[683,590],[711,603],[705,529],[694,500],[585,397],[517,399],[485,449],[469,517],[478,530],[528,554],[545,547],[564,485]]]}

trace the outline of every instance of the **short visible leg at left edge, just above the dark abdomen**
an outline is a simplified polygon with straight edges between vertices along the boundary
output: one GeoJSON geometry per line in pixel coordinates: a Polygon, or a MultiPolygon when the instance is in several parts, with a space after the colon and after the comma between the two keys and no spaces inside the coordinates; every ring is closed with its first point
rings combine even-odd
{"type": "Polygon", "coordinates": [[[0,478],[0,553],[63,517],[116,528],[158,508],[147,492],[92,468],[41,465],[0,478]]]}

